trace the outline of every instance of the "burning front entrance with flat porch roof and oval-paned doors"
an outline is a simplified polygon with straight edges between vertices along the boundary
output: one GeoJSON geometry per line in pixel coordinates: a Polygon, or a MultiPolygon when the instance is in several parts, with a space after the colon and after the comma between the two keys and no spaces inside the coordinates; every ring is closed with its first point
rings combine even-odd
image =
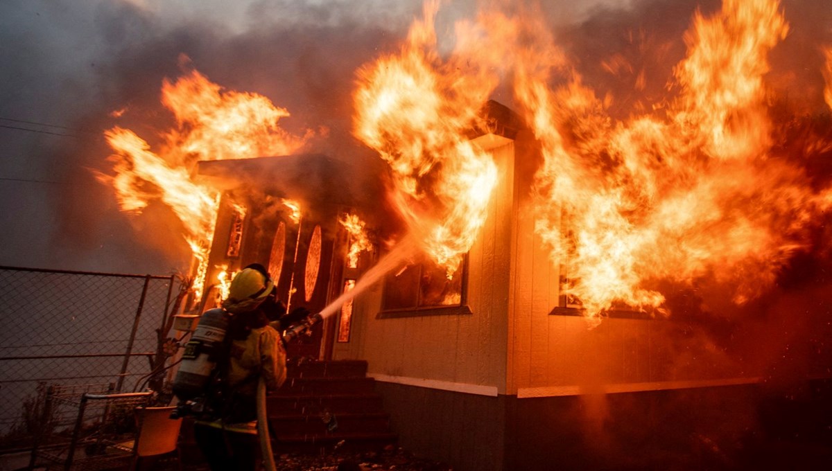
{"type": "MultiPolygon", "coordinates": [[[[222,189],[222,198],[207,272],[208,280],[219,281],[210,285],[196,312],[217,305],[225,280],[254,262],[268,267],[289,310],[320,312],[358,277],[342,221],[345,213],[380,194],[380,187],[350,177],[349,165],[305,154],[203,161],[199,172],[222,189]]],[[[337,321],[329,319],[310,336],[291,342],[290,356],[329,356],[337,321]]]]}

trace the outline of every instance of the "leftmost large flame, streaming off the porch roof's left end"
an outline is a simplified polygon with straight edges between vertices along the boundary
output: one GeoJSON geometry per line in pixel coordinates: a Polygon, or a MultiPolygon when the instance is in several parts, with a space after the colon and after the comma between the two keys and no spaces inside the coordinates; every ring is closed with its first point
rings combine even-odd
{"type": "MultiPolygon", "coordinates": [[[[115,175],[98,178],[112,184],[124,211],[140,213],[152,200],[159,200],[176,213],[196,262],[192,289],[200,298],[220,191],[196,179],[196,162],[286,155],[300,149],[312,134],[288,134],[278,125],[289,115],[286,110],[264,96],[225,91],[198,71],[163,81],[161,101],[176,117],[176,127],[163,133],[159,150],[151,150],[131,130],[107,130],[115,175]]],[[[245,208],[235,207],[245,213],[245,208]]]]}

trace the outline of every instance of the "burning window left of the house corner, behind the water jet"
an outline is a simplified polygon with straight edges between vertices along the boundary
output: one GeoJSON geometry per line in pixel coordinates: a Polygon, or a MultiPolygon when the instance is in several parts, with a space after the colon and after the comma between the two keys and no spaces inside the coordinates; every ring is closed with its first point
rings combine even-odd
{"type": "Polygon", "coordinates": [[[466,267],[467,258],[451,275],[428,258],[401,267],[384,282],[384,309],[461,306],[466,267]]]}

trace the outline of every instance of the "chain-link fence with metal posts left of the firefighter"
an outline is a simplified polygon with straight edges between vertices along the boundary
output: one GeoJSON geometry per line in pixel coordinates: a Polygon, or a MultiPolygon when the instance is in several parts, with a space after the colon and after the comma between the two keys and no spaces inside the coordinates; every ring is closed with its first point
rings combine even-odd
{"type": "Polygon", "coordinates": [[[41,419],[49,385],[141,387],[175,282],[0,267],[0,449],[20,446],[41,419]]]}

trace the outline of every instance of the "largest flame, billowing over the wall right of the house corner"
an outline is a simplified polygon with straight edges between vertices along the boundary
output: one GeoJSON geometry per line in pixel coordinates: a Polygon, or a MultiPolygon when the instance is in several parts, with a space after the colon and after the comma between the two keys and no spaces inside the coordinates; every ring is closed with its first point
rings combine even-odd
{"type": "Polygon", "coordinates": [[[625,121],[607,114],[609,99],[568,66],[537,17],[483,22],[541,143],[535,230],[592,319],[622,303],[665,312],[658,280],[713,277],[746,302],[805,246],[828,192],[770,159],[766,57],[789,30],[779,2],[726,0],[711,17],[696,13],[676,99],[625,121]]]}

